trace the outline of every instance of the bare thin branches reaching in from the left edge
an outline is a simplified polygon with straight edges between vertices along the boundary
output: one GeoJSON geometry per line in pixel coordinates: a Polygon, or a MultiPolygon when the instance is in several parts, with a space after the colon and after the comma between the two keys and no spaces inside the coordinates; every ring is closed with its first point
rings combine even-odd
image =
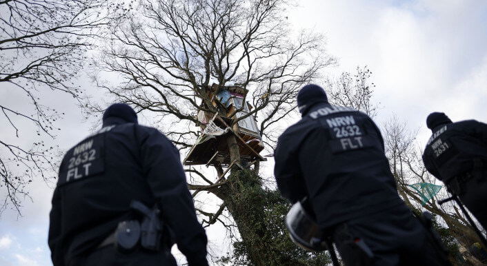
{"type": "MultiPolygon", "coordinates": [[[[26,184],[40,175],[47,181],[54,170],[54,147],[41,139],[26,144],[31,132],[54,138],[54,123],[63,113],[43,104],[46,93],[64,92],[79,99],[83,90],[72,83],[82,68],[92,37],[130,8],[101,0],[0,1],[0,99],[3,133],[0,139],[0,211],[9,203],[20,214],[26,184]],[[125,8],[125,9],[124,9],[125,8]],[[21,100],[12,102],[12,99],[21,100]],[[21,132],[27,123],[29,130],[21,132]],[[34,130],[32,130],[32,127],[34,130]],[[31,147],[28,147],[32,145],[31,147]]],[[[55,171],[55,170],[54,170],[55,171]]]]}

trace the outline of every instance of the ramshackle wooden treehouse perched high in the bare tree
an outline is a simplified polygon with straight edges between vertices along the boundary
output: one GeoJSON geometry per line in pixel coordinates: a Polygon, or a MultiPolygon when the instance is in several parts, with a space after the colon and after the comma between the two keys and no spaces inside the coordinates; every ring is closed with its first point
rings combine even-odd
{"type": "MultiPolygon", "coordinates": [[[[226,141],[228,134],[235,134],[239,145],[241,166],[250,166],[257,161],[266,161],[266,158],[259,154],[261,150],[264,150],[264,145],[255,117],[248,114],[252,110],[252,106],[244,101],[244,96],[248,90],[236,86],[223,87],[218,91],[217,89],[216,84],[208,86],[206,95],[213,106],[226,110],[226,116],[219,116],[203,110],[199,111],[197,118],[201,132],[195,145],[184,158],[183,164],[230,166],[232,162],[230,162],[230,151],[226,141]],[[235,113],[235,110],[239,109],[241,111],[235,113]],[[246,117],[232,126],[233,121],[242,116],[246,117]]],[[[208,109],[204,101],[201,103],[201,108],[208,109]]]]}

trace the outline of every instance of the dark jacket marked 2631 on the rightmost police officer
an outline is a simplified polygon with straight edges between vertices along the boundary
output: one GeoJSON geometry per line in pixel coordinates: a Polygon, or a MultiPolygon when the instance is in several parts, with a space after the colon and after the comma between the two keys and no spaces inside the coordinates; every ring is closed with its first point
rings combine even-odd
{"type": "Polygon", "coordinates": [[[473,159],[487,163],[487,125],[475,120],[438,125],[423,153],[426,170],[445,183],[473,170],[473,159]]]}

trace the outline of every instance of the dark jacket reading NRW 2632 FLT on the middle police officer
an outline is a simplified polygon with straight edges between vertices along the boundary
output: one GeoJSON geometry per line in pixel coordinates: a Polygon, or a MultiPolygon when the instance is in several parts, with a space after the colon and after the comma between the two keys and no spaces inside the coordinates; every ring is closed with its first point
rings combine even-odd
{"type": "Polygon", "coordinates": [[[312,106],[279,137],[275,177],[292,203],[308,196],[322,229],[404,204],[381,133],[352,108],[312,106]]]}

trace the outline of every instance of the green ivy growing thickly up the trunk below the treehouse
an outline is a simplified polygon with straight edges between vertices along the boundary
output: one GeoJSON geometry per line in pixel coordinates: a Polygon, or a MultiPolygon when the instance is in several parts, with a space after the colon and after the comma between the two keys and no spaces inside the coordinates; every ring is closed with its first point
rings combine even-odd
{"type": "Polygon", "coordinates": [[[233,253],[219,258],[232,265],[326,265],[327,252],[306,252],[288,236],[284,219],[291,205],[279,192],[262,187],[251,170],[232,172],[226,204],[239,227],[241,241],[233,253]]]}

